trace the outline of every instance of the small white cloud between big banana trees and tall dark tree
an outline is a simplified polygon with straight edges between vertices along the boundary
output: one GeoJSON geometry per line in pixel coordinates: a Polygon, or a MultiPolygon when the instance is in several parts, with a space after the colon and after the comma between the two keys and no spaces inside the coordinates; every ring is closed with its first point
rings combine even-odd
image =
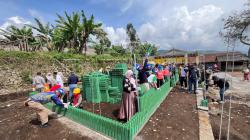
{"type": "Polygon", "coordinates": [[[127,45],[127,34],[124,28],[104,27],[104,30],[108,34],[108,38],[114,45],[127,45]]]}

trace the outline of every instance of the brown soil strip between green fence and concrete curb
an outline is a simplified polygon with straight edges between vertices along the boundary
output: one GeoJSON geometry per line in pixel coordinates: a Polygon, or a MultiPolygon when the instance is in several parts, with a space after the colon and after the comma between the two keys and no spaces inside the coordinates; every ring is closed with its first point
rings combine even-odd
{"type": "Polygon", "coordinates": [[[196,96],[174,88],[138,134],[143,140],[198,140],[196,96]]]}

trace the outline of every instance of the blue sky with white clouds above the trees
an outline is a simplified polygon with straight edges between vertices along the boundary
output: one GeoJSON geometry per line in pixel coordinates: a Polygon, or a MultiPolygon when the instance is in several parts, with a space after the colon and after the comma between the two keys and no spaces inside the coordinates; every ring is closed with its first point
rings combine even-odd
{"type": "MultiPolygon", "coordinates": [[[[132,23],[142,42],[159,49],[226,50],[219,31],[223,18],[246,9],[247,0],[0,0],[0,28],[34,24],[37,17],[55,24],[56,14],[84,10],[103,23],[112,44],[126,46],[132,23]]],[[[248,47],[236,43],[237,50],[248,47]]]]}

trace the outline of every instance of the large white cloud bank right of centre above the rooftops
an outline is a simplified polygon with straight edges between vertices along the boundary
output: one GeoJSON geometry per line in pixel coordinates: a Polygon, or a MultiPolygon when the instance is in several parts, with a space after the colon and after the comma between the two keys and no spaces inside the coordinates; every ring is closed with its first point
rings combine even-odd
{"type": "Polygon", "coordinates": [[[142,41],[160,44],[162,49],[218,47],[218,42],[221,42],[218,32],[224,13],[222,8],[204,5],[190,11],[187,6],[181,6],[167,14],[169,10],[157,7],[158,9],[149,9],[150,20],[139,27],[138,34],[142,41]]]}

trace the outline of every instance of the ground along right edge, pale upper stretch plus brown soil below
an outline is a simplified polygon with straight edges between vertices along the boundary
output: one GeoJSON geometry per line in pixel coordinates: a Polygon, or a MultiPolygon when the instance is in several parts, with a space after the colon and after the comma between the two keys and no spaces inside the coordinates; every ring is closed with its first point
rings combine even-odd
{"type": "MultiPolygon", "coordinates": [[[[227,139],[227,128],[229,118],[229,99],[230,92],[232,93],[232,110],[231,110],[231,126],[230,126],[230,139],[231,140],[249,140],[250,139],[250,82],[242,81],[241,72],[229,73],[232,76],[233,83],[232,89],[225,94],[225,104],[223,113],[222,125],[222,140],[227,139]]],[[[217,88],[210,88],[209,98],[209,113],[210,122],[212,125],[215,139],[219,139],[220,131],[220,114],[221,105],[218,103],[211,103],[219,99],[219,92],[217,88]]]]}

